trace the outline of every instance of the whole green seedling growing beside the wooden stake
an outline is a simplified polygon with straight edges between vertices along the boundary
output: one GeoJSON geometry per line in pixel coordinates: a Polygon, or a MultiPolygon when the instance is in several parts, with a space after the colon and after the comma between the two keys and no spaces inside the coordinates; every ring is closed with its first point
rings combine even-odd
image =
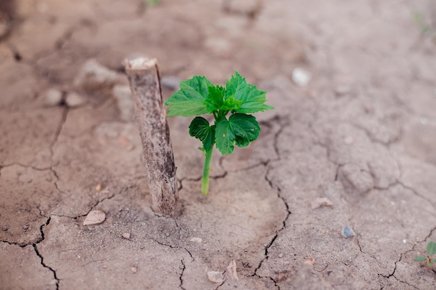
{"type": "Polygon", "coordinates": [[[226,81],[226,86],[215,86],[205,76],[194,76],[180,82],[180,90],[165,102],[169,106],[168,115],[192,117],[189,135],[203,143],[200,149],[205,154],[201,193],[208,194],[210,161],[216,145],[221,154],[232,154],[235,145],[246,147],[259,136],[260,127],[254,115],[271,110],[266,92],[258,90],[238,73],[226,81]],[[227,118],[228,114],[230,116],[227,118]],[[210,114],[214,124],[200,115],[210,114]]]}

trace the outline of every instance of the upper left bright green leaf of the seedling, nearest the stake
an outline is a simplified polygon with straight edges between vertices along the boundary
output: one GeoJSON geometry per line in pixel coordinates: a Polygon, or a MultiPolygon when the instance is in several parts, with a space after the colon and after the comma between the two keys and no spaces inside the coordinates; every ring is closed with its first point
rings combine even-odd
{"type": "Polygon", "coordinates": [[[209,86],[213,85],[205,76],[194,76],[187,81],[180,81],[180,90],[165,102],[169,106],[168,116],[190,117],[208,113],[204,102],[209,96],[209,86]]]}

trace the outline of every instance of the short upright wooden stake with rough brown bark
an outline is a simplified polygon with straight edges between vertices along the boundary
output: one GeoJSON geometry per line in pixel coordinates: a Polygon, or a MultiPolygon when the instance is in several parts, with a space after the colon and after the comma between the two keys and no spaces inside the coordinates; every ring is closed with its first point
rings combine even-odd
{"type": "Polygon", "coordinates": [[[173,147],[162,102],[157,60],[126,61],[134,111],[141,135],[143,161],[148,170],[152,208],[164,216],[177,214],[178,192],[173,147]]]}

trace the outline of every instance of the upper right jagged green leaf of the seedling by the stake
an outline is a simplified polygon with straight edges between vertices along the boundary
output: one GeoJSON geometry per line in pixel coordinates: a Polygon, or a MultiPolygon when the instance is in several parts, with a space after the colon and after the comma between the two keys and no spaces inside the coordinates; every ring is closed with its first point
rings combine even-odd
{"type": "Polygon", "coordinates": [[[265,96],[266,92],[247,83],[238,72],[226,82],[224,99],[233,97],[236,101],[242,101],[239,108],[233,109],[237,113],[256,113],[273,109],[274,107],[264,104],[267,100],[265,96]]]}

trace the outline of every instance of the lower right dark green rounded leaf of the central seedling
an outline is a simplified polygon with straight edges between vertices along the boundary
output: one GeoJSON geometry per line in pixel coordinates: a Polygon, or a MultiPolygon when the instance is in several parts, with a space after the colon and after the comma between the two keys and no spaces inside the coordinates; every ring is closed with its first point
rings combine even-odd
{"type": "Polygon", "coordinates": [[[233,134],[235,134],[235,144],[238,147],[247,147],[251,141],[258,138],[260,127],[253,115],[236,113],[228,118],[233,134]]]}

